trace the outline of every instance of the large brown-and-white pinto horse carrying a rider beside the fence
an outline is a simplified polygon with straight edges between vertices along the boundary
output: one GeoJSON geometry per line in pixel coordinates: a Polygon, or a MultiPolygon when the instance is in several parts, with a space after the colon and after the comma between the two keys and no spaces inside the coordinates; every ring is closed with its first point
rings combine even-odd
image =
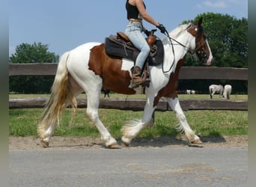
{"type": "MultiPolygon", "coordinates": [[[[124,145],[129,146],[132,138],[135,138],[144,126],[152,125],[153,111],[162,97],[179,120],[177,130],[185,132],[190,143],[201,143],[186,121],[176,92],[180,68],[187,53],[195,54],[204,65],[210,65],[213,61],[201,23],[202,19],[199,19],[196,24],[180,25],[170,33],[166,32],[162,38],[165,54],[163,64],[149,67],[150,84],[145,88],[147,102],[144,113],[140,120],[131,120],[122,127],[121,141],[124,145]]],[[[46,103],[43,118],[37,126],[43,147],[49,147],[50,138],[64,108],[71,105],[75,110],[76,96],[85,91],[88,117],[97,126],[104,144],[109,148],[120,148],[100,120],[100,91],[101,88],[106,88],[117,93],[135,94],[138,88],[130,87],[134,62],[127,58],[107,55],[104,45],[85,43],[61,56],[51,95],[46,103]]]]}

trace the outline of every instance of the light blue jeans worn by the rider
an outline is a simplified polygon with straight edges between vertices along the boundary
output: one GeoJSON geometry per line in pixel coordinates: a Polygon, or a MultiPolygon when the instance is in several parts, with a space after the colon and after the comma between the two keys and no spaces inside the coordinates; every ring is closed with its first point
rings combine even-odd
{"type": "Polygon", "coordinates": [[[135,66],[138,66],[142,69],[144,62],[147,59],[147,56],[150,53],[150,47],[145,40],[142,31],[142,25],[140,22],[129,22],[125,33],[132,44],[141,52],[138,54],[138,57],[135,61],[135,66]]]}

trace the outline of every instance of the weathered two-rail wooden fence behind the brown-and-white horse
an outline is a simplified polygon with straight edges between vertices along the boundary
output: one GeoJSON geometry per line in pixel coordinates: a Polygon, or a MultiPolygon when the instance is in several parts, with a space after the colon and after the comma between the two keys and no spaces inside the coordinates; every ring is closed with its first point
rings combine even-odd
{"type": "MultiPolygon", "coordinates": [[[[54,76],[58,64],[9,64],[9,76],[54,76]]],[[[182,67],[179,79],[248,80],[247,68],[233,67],[182,67]]],[[[9,99],[9,108],[41,108],[47,98],[9,99]]],[[[100,108],[143,110],[143,99],[101,99],[100,108]]],[[[224,99],[180,99],[183,110],[247,110],[247,101],[224,99]]],[[[86,107],[86,100],[78,98],[78,107],[86,107]]],[[[156,110],[171,110],[167,102],[160,101],[156,110]]]]}

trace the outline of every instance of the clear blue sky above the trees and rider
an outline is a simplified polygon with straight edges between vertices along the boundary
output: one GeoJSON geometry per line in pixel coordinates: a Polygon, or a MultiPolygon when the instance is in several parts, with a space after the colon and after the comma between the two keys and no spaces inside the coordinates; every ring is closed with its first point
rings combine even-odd
{"type": "MultiPolygon", "coordinates": [[[[124,31],[127,25],[126,0],[10,0],[8,3],[9,55],[21,43],[34,42],[48,44],[49,52],[62,55],[83,43],[103,43],[105,37],[124,31]]],[[[144,3],[147,13],[168,31],[201,13],[248,18],[248,0],[144,0],[144,3]]],[[[147,22],[144,26],[148,30],[155,28],[147,22]]],[[[156,35],[162,37],[159,31],[156,35]]]]}

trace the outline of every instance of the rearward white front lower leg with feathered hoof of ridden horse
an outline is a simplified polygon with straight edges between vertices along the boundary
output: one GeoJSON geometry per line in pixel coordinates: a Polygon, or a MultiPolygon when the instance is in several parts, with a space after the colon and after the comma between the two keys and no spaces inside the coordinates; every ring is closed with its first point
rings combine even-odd
{"type": "Polygon", "coordinates": [[[144,113],[141,120],[130,120],[123,128],[121,132],[123,132],[123,137],[121,138],[123,144],[125,146],[129,146],[130,142],[144,126],[153,126],[153,99],[147,98],[146,105],[144,107],[144,113]]]}

